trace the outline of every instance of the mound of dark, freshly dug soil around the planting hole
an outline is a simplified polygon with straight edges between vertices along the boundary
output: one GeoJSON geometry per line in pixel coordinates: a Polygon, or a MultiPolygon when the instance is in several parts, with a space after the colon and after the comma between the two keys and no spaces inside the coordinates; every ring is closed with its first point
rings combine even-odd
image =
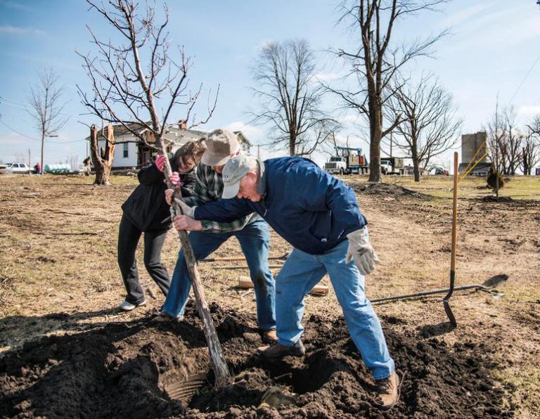
{"type": "MultiPolygon", "coordinates": [[[[373,408],[373,381],[344,321],[311,316],[304,359],[263,361],[251,318],[212,307],[235,384],[212,388],[212,372],[195,310],[176,324],[115,323],[77,335],[46,337],[0,359],[0,416],[28,418],[383,418],[373,408]],[[165,387],[203,375],[188,400],[165,387]],[[287,387],[293,404],[259,406],[266,389],[287,387]]],[[[396,321],[390,322],[392,324],[396,321]]],[[[398,321],[399,323],[399,321],[398,321]]],[[[391,417],[508,417],[491,375],[493,349],[404,336],[383,321],[390,353],[404,375],[391,417]]]]}

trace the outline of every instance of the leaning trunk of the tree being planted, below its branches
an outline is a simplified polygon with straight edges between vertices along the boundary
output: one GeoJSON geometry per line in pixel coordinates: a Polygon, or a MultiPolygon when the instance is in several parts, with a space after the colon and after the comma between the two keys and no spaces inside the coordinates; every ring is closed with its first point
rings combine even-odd
{"type": "MultiPolygon", "coordinates": [[[[175,199],[174,202],[172,202],[173,205],[171,207],[171,215],[172,218],[174,218],[174,216],[176,216],[177,214],[184,214],[181,205],[176,202],[176,198],[181,199],[182,193],[180,188],[175,187],[171,181],[172,170],[169,165],[169,159],[167,158],[167,150],[165,149],[162,138],[156,138],[155,143],[160,150],[160,155],[163,156],[158,156],[158,158],[160,158],[160,164],[165,157],[162,172],[163,174],[165,174],[165,181],[167,183],[167,187],[169,189],[174,188],[173,197],[175,199]]],[[[156,159],[156,161],[157,160],[158,159],[156,159]]],[[[210,351],[210,359],[212,360],[212,366],[214,368],[214,373],[216,376],[215,384],[216,387],[224,387],[225,385],[231,384],[231,373],[229,372],[229,367],[227,366],[227,363],[225,361],[223,349],[221,349],[221,344],[219,343],[219,339],[217,337],[216,328],[214,327],[214,321],[212,321],[212,316],[210,316],[210,310],[208,309],[208,304],[205,299],[205,290],[202,283],[200,282],[197,262],[195,260],[195,255],[193,254],[193,248],[191,247],[191,243],[189,243],[188,233],[186,233],[186,231],[179,231],[178,235],[181,241],[182,249],[184,250],[184,257],[186,258],[186,266],[188,268],[189,278],[191,280],[191,284],[193,285],[193,294],[195,295],[197,310],[199,312],[200,320],[203,323],[203,332],[205,333],[206,342],[210,351]]]]}

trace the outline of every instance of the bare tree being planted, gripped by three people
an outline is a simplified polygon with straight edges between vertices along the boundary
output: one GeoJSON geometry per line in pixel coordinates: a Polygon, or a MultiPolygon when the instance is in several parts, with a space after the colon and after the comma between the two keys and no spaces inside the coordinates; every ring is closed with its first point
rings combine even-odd
{"type": "MultiPolygon", "coordinates": [[[[106,4],[87,0],[87,3],[91,10],[110,24],[113,37],[102,41],[88,27],[97,56],[79,54],[84,60],[83,67],[92,86],[91,94],[77,86],[82,103],[92,115],[102,121],[122,125],[136,138],[145,143],[150,141],[149,144],[155,146],[159,153],[166,155],[163,135],[171,126],[168,124],[169,117],[174,115],[176,121],[179,121],[175,112],[181,108],[184,113],[181,119],[191,120],[192,126],[197,124],[191,112],[202,91],[202,86],[198,86],[195,91],[188,88],[191,59],[184,55],[184,50],[177,51],[176,59],[169,53],[167,6],[164,6],[163,21],[158,23],[155,4],[152,3],[145,6],[135,0],[110,0],[106,4]],[[113,44],[110,39],[120,41],[113,44]]],[[[217,96],[213,105],[208,104],[207,117],[200,123],[210,118],[216,101],[217,96]]],[[[174,188],[169,179],[171,167],[168,160],[164,172],[167,185],[174,188]]],[[[175,195],[181,198],[179,189],[175,195]]],[[[173,214],[182,214],[176,202],[172,208],[173,214]]],[[[225,385],[231,381],[231,376],[215,333],[186,231],[179,231],[179,238],[214,364],[216,382],[217,385],[225,385]]]]}

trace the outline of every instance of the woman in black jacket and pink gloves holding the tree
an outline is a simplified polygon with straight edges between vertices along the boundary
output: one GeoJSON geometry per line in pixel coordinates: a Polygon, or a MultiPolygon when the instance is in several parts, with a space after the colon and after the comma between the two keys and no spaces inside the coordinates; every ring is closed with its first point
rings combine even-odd
{"type": "MultiPolygon", "coordinates": [[[[195,189],[195,167],[205,151],[204,138],[190,141],[176,150],[169,161],[172,178],[181,183],[182,196],[190,196],[195,189]]],[[[161,263],[161,248],[171,227],[169,205],[165,202],[165,175],[163,167],[167,157],[158,155],[154,165],[143,167],[139,186],[122,205],[124,214],[118,231],[118,265],[127,290],[126,299],[120,303],[124,311],[131,311],[146,304],[135,252],[144,233],[144,266],[163,294],[169,291],[169,273],[161,263]]],[[[176,181],[174,182],[176,183],[176,181]]]]}

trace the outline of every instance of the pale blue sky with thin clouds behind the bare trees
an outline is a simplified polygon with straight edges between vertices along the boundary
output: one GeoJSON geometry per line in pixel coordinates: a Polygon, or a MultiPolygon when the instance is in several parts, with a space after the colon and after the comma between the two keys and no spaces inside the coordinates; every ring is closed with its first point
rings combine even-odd
{"type": "MultiPolygon", "coordinates": [[[[512,104],[522,123],[540,113],[540,62],[534,65],[540,56],[540,11],[535,3],[455,0],[438,13],[421,13],[397,28],[395,39],[425,37],[451,29],[452,36],[437,44],[437,58],[417,60],[411,63],[410,70],[413,74],[435,73],[454,94],[459,115],[465,120],[464,132],[482,129],[494,112],[498,92],[501,105],[510,103],[513,96],[512,104]]],[[[170,37],[174,44],[184,45],[186,53],[195,59],[191,82],[203,82],[206,91],[220,85],[217,110],[203,129],[242,129],[254,143],[266,143],[267,130],[246,123],[249,118],[245,112],[256,103],[249,90],[249,67],[264,42],[308,39],[319,51],[320,77],[326,80],[340,77],[346,69],[324,51],[355,44],[343,27],[335,25],[338,1],[171,0],[168,4],[172,9],[170,37]]],[[[37,70],[43,67],[56,70],[65,84],[65,112],[70,115],[60,136],[50,138],[46,144],[45,161],[65,161],[68,156],[82,160],[86,155],[83,139],[88,129],[78,121],[100,123],[82,115],[86,111],[75,87],[89,87],[81,59],[75,54],[76,49],[82,53],[93,51],[86,24],[103,38],[113,34],[82,0],[0,0],[3,162],[14,160],[18,153],[27,156],[29,148],[32,165],[38,159],[39,141],[27,137],[38,138],[39,133],[32,127],[24,105],[29,85],[36,82],[37,70]]],[[[326,104],[330,108],[335,105],[331,100],[326,104]]],[[[181,116],[180,110],[174,115],[181,116]]],[[[354,115],[340,113],[340,118],[357,122],[354,115]]],[[[346,124],[340,135],[349,136],[355,146],[367,148],[365,135],[352,124],[346,124]]],[[[323,157],[317,160],[322,162],[323,157]]],[[[449,155],[443,160],[449,161],[449,155]]]]}

